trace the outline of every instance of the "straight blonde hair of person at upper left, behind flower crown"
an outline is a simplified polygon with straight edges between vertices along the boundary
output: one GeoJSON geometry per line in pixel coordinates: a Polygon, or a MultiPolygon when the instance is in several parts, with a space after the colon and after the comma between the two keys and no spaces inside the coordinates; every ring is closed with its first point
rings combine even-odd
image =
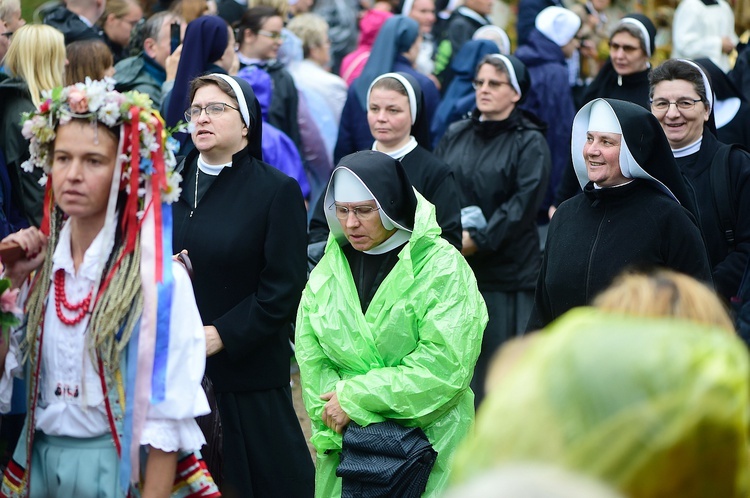
{"type": "Polygon", "coordinates": [[[65,38],[44,24],[27,24],[13,33],[5,67],[29,87],[34,106],[42,103],[42,91],[65,83],[65,38]]]}

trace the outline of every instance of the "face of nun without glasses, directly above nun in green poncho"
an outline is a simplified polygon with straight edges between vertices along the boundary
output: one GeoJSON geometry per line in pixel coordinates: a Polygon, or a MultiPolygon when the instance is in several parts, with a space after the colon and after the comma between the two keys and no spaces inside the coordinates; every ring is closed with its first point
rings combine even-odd
{"type": "Polygon", "coordinates": [[[395,90],[374,88],[370,92],[367,123],[372,137],[382,146],[378,150],[396,150],[406,144],[411,133],[409,98],[395,90]]]}

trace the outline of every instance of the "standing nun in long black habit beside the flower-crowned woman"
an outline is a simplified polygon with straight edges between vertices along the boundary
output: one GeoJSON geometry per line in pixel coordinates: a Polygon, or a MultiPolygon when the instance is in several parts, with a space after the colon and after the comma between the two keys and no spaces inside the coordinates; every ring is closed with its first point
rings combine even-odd
{"type": "Polygon", "coordinates": [[[206,374],[223,429],[222,493],[313,495],[314,468],[292,406],[289,336],[305,285],[299,185],[262,162],[250,85],[212,74],[191,83],[195,149],[174,204],[175,250],[189,252],[206,331],[206,374]]]}

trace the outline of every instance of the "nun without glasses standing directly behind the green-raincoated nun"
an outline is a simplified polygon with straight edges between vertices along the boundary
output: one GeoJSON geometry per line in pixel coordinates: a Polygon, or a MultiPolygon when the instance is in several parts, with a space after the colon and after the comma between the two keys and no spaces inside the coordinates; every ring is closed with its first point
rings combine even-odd
{"type": "MultiPolygon", "coordinates": [[[[453,172],[422,144],[429,141],[429,121],[422,87],[408,73],[386,73],[375,78],[367,92],[367,117],[375,138],[372,150],[401,162],[409,181],[435,205],[442,236],[461,249],[461,208],[453,172]]],[[[308,252],[320,260],[328,238],[323,198],[310,220],[308,252]]]]}

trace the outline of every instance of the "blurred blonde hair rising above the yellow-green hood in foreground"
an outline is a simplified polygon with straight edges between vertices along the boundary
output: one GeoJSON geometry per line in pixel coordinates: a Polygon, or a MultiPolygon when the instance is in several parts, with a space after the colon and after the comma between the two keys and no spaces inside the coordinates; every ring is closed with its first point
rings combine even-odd
{"type": "Polygon", "coordinates": [[[724,303],[713,290],[666,268],[621,274],[593,305],[635,316],[682,318],[735,332],[724,303]]]}

